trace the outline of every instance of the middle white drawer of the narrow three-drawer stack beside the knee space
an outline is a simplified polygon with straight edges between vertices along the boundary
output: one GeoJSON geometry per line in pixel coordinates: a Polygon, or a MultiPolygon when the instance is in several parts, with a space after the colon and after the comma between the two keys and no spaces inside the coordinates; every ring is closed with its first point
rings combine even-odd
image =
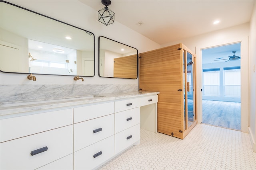
{"type": "Polygon", "coordinates": [[[115,113],[116,133],[140,123],[140,107],[115,113]]]}

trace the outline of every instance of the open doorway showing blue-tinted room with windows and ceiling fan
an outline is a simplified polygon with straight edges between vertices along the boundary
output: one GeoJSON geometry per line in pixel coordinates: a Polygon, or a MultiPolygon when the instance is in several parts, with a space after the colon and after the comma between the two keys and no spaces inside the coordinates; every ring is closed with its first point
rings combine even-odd
{"type": "Polygon", "coordinates": [[[240,43],[202,50],[202,123],[241,130],[240,43]]]}

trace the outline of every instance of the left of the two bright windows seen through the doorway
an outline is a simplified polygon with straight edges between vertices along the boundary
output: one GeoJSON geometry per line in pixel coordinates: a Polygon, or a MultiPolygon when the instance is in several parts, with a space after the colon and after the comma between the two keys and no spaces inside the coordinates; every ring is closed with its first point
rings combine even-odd
{"type": "Polygon", "coordinates": [[[220,68],[203,70],[203,95],[220,96],[220,68]]]}

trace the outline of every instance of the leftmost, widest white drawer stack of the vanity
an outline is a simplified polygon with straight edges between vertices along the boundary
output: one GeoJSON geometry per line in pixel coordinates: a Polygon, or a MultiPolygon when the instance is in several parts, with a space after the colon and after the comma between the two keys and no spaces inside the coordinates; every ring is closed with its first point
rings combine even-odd
{"type": "Polygon", "coordinates": [[[72,169],[72,113],[64,109],[1,119],[1,169],[43,169],[46,164],[55,169],[54,161],[72,169]]]}

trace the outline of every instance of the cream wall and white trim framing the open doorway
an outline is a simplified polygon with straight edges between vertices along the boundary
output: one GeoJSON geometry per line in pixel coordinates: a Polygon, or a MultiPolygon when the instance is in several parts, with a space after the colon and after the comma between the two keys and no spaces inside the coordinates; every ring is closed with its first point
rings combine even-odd
{"type": "Polygon", "coordinates": [[[183,43],[190,50],[196,53],[196,76],[198,95],[198,122],[202,122],[202,49],[241,42],[241,129],[248,133],[248,36],[250,25],[244,23],[227,29],[220,29],[210,33],[180,39],[162,45],[166,47],[177,43],[183,43]]]}

